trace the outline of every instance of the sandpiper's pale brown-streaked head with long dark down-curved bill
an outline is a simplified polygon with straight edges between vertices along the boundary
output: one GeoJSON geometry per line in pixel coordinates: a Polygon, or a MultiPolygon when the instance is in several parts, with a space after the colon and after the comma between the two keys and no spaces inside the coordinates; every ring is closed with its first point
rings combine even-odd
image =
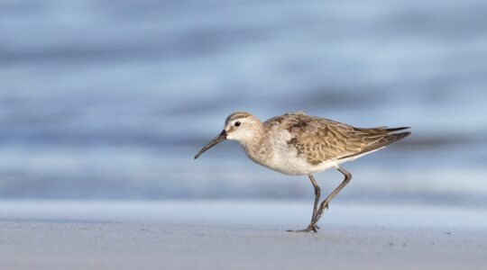
{"type": "Polygon", "coordinates": [[[216,146],[225,139],[232,139],[240,142],[242,145],[250,143],[257,138],[262,132],[262,122],[249,112],[234,112],[225,120],[225,128],[212,139],[204,148],[199,150],[195,159],[203,154],[207,149],[216,146]]]}

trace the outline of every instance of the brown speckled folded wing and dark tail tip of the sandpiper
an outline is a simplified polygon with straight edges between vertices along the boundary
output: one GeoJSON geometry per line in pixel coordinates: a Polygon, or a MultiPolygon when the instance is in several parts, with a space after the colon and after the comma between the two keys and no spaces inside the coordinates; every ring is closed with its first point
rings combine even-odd
{"type": "Polygon", "coordinates": [[[289,130],[291,139],[288,143],[312,165],[360,155],[409,135],[409,132],[390,133],[405,128],[358,129],[303,112],[284,114],[266,121],[264,125],[280,125],[281,129],[289,130]]]}

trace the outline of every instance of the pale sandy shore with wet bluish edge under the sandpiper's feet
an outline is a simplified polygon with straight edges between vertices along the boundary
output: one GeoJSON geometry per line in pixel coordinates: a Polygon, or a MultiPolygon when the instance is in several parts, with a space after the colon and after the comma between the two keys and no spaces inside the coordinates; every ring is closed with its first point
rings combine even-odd
{"type": "Polygon", "coordinates": [[[487,211],[309,202],[0,202],[0,269],[485,269],[487,211]]]}

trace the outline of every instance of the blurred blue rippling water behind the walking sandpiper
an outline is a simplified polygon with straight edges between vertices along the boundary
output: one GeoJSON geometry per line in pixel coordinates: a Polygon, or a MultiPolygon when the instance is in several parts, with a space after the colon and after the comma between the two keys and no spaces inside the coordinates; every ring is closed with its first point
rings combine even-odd
{"type": "MultiPolygon", "coordinates": [[[[345,164],[343,202],[487,207],[487,2],[0,0],[3,199],[313,199],[230,112],[413,135],[345,164]]],[[[331,191],[342,175],[317,175],[331,191]]]]}

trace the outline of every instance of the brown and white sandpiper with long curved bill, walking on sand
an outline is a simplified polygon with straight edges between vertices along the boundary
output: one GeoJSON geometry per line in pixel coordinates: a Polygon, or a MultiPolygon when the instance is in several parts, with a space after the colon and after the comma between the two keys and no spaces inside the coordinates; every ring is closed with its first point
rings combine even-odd
{"type": "Polygon", "coordinates": [[[354,128],[305,112],[287,113],[262,123],[249,112],[234,112],[226,118],[224,130],[202,148],[195,159],[217,143],[232,139],[242,145],[247,157],[262,166],[285,175],[308,175],[315,188],[311,222],[306,229],[289,231],[317,232],[317,222],[323,211],[352,178],[340,164],[403,139],[410,132],[397,131],[406,129],[409,127],[354,128]],[[321,190],[313,174],[331,167],[345,175],[345,179],[318,207],[321,190]]]}

